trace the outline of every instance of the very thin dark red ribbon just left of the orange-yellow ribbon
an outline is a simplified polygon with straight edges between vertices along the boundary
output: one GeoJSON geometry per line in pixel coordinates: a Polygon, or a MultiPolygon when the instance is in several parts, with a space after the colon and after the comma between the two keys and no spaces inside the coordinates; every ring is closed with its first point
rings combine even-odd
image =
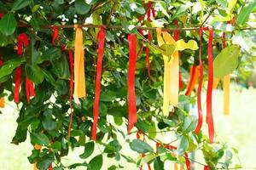
{"type": "Polygon", "coordinates": [[[70,107],[70,117],[69,117],[69,125],[68,125],[68,131],[67,136],[70,138],[71,133],[71,127],[73,122],[73,111],[72,111],[72,95],[73,95],[73,53],[72,50],[68,50],[68,56],[69,56],[69,70],[70,70],[70,81],[69,81],[69,107],[70,107]]]}

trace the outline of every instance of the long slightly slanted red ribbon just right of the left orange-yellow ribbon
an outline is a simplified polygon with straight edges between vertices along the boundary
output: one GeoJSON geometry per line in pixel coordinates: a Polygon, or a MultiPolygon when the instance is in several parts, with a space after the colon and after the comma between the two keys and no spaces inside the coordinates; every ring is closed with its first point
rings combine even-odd
{"type": "Polygon", "coordinates": [[[104,54],[104,43],[105,43],[105,28],[101,26],[100,31],[98,32],[98,59],[97,59],[97,70],[96,70],[96,88],[95,88],[95,99],[93,105],[93,124],[92,124],[92,134],[91,139],[96,140],[96,130],[97,122],[99,116],[99,103],[101,95],[101,78],[102,78],[102,59],[104,54]]]}

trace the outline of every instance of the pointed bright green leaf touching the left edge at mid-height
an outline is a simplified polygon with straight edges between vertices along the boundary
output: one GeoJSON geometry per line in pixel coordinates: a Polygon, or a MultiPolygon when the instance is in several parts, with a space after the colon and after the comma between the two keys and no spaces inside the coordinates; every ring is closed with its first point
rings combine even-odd
{"type": "Polygon", "coordinates": [[[0,79],[11,74],[24,61],[23,58],[9,59],[0,68],[0,79]]]}

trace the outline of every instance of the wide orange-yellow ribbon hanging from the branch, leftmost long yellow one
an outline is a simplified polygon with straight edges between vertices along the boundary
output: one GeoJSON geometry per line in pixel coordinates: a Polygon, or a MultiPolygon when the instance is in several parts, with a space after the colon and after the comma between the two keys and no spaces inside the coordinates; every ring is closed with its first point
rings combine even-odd
{"type": "Polygon", "coordinates": [[[83,31],[77,25],[76,37],[74,42],[74,92],[73,98],[79,103],[79,98],[86,96],[85,75],[84,75],[84,48],[83,48],[83,31]]]}

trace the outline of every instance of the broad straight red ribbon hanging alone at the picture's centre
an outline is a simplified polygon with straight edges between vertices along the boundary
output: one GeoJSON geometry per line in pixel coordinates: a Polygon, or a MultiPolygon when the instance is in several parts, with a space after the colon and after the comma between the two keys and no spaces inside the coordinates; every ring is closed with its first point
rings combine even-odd
{"type": "Polygon", "coordinates": [[[136,71],[136,36],[128,35],[129,43],[129,68],[128,68],[128,133],[137,122],[136,94],[135,94],[135,71],[136,71]]]}

